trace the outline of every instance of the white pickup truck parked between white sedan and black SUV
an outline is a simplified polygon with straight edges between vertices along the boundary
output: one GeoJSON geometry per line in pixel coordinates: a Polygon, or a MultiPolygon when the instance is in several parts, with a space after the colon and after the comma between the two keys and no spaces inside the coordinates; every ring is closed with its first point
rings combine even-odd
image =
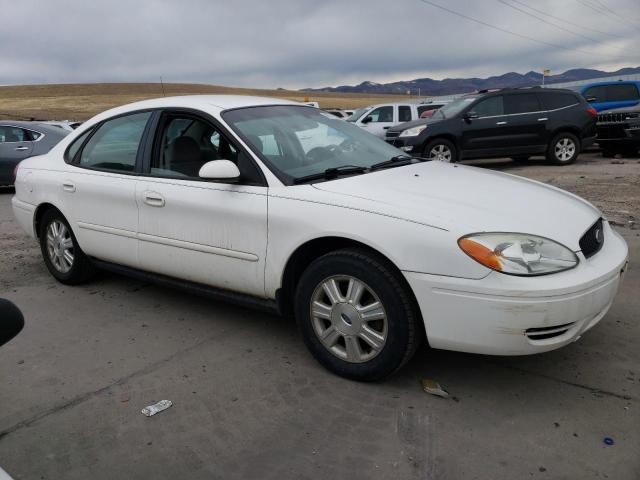
{"type": "Polygon", "coordinates": [[[420,118],[428,110],[438,109],[442,103],[383,103],[359,108],[347,119],[370,133],[384,138],[389,127],[420,118]]]}

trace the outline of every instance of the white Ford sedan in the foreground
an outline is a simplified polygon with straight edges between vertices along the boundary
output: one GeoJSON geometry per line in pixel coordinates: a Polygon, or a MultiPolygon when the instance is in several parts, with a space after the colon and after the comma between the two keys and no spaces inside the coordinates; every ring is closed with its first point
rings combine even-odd
{"type": "Polygon", "coordinates": [[[496,355],[567,345],[606,314],[628,256],[574,195],[405,157],[269,98],[109,110],[23,161],[12,203],[59,281],[98,266],[294,314],[313,355],[358,380],[425,339],[496,355]]]}

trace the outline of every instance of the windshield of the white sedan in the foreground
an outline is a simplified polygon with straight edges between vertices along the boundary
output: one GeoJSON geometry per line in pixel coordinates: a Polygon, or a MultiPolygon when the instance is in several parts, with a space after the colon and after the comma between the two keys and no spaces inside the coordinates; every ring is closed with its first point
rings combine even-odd
{"type": "Polygon", "coordinates": [[[251,107],[225,112],[223,118],[285,183],[331,168],[369,168],[403,155],[367,131],[314,108],[251,107]]]}

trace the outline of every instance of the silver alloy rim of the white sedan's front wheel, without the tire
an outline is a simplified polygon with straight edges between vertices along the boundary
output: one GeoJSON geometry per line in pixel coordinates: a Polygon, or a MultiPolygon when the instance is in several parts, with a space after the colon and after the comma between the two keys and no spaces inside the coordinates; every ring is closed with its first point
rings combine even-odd
{"type": "Polygon", "coordinates": [[[376,357],[387,341],[384,305],[364,282],[349,275],[324,279],[311,296],[313,330],[329,352],[351,363],[376,357]]]}

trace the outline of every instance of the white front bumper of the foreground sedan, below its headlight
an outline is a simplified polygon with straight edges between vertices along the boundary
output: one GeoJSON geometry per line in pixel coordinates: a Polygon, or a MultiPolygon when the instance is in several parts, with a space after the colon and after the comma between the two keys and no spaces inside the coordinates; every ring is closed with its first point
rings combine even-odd
{"type": "Polygon", "coordinates": [[[566,272],[481,280],[403,272],[416,295],[433,348],[527,355],[567,345],[597,324],[628,262],[625,241],[605,223],[605,244],[566,272]]]}

